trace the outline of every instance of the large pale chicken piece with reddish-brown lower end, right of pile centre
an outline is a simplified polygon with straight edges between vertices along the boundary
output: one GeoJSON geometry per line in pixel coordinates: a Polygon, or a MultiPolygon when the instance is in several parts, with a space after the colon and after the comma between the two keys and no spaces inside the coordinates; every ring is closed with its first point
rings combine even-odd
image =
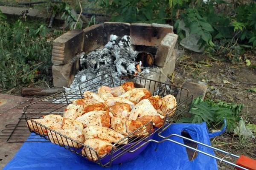
{"type": "Polygon", "coordinates": [[[161,127],[163,125],[165,116],[157,113],[157,110],[150,103],[148,99],[143,99],[130,112],[130,120],[138,120],[144,125],[150,121],[153,122],[155,127],[161,127]]]}

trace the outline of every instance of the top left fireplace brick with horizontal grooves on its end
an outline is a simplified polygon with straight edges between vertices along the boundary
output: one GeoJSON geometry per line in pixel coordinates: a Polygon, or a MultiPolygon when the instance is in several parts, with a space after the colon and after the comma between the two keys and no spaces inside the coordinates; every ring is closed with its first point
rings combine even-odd
{"type": "Polygon", "coordinates": [[[84,32],[79,29],[68,31],[52,42],[52,63],[64,65],[76,54],[81,53],[84,43],[84,32]]]}

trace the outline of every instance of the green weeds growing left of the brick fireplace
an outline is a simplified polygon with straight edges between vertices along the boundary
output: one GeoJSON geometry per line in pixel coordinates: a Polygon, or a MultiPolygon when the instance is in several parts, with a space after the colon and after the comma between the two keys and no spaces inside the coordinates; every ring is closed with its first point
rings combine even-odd
{"type": "MultiPolygon", "coordinates": [[[[22,18],[21,18],[22,19],[22,18]]],[[[17,20],[9,23],[0,11],[0,86],[13,88],[45,78],[51,59],[48,29],[17,20]]]]}

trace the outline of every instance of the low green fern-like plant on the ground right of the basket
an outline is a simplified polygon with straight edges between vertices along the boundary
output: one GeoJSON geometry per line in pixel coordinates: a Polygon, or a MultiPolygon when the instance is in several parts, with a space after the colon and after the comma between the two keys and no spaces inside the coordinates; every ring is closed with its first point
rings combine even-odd
{"type": "Polygon", "coordinates": [[[227,131],[233,131],[238,125],[240,120],[239,114],[241,113],[244,105],[237,105],[235,103],[227,103],[223,101],[214,101],[210,99],[203,100],[200,97],[193,99],[192,108],[189,113],[191,117],[184,117],[179,120],[183,123],[201,123],[206,122],[207,125],[221,125],[223,120],[226,119],[227,131]]]}

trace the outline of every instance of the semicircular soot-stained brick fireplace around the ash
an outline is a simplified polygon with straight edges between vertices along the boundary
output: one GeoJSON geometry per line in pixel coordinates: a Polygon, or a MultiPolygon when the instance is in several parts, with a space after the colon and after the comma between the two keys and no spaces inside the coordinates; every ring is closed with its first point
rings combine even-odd
{"type": "Polygon", "coordinates": [[[55,87],[69,87],[79,71],[79,54],[102,48],[111,34],[131,36],[132,48],[154,56],[154,67],[141,76],[165,82],[175,69],[177,35],[173,27],[163,24],[112,23],[93,25],[84,30],[69,31],[53,41],[52,76],[55,87]],[[158,68],[157,68],[157,67],[158,68]]]}

